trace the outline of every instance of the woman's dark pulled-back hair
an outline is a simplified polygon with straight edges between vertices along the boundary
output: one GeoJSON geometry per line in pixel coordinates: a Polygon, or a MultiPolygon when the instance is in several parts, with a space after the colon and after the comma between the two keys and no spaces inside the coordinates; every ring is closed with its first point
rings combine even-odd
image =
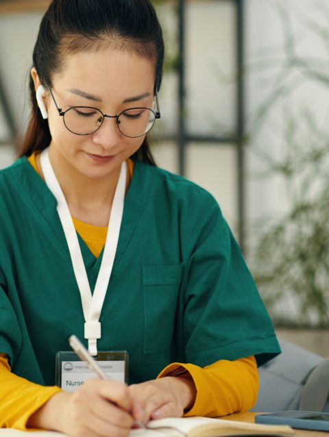
{"type": "MultiPolygon", "coordinates": [[[[33,52],[33,64],[40,81],[44,86],[51,86],[53,74],[61,71],[65,54],[100,49],[109,41],[118,49],[154,60],[154,92],[158,92],[164,44],[149,0],[53,0],[42,18],[33,52]]],[[[19,156],[43,150],[51,141],[48,121],[38,110],[32,78],[29,94],[32,114],[19,156]]],[[[147,138],[133,158],[155,165],[147,138]]]]}

